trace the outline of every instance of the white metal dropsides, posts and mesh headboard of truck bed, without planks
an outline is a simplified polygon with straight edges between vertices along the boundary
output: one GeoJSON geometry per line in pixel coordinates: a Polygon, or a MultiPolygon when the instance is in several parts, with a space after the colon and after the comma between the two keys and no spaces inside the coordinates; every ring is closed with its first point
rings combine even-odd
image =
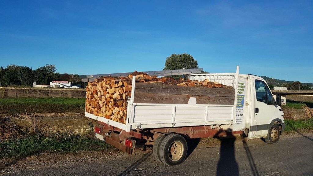
{"type": "MultiPolygon", "coordinates": [[[[191,74],[190,80],[205,80],[219,82],[237,87],[239,66],[236,73],[228,74],[191,74]]],[[[203,104],[152,104],[134,103],[135,79],[132,82],[131,98],[128,99],[126,124],[115,122],[101,116],[85,112],[85,116],[118,127],[126,132],[131,129],[188,127],[203,125],[232,125],[235,119],[235,101],[233,105],[203,105],[203,104]]]]}

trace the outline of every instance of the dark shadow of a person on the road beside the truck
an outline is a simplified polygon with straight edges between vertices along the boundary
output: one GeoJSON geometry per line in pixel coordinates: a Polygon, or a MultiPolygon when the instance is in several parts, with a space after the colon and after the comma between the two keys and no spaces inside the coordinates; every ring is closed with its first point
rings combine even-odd
{"type": "Polygon", "coordinates": [[[239,175],[239,168],[235,158],[235,146],[234,142],[236,137],[231,134],[231,132],[226,132],[227,137],[218,137],[219,133],[223,131],[219,131],[214,138],[217,138],[221,141],[220,148],[220,158],[217,165],[217,176],[223,175],[239,175]]]}

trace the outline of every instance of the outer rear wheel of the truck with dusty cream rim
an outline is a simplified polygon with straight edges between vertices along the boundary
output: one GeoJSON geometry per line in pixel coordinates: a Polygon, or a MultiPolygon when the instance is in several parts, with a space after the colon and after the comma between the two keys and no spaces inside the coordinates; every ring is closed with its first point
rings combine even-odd
{"type": "Polygon", "coordinates": [[[160,145],[160,158],[162,163],[174,166],[185,161],[187,156],[187,142],[178,134],[165,136],[160,145]]]}

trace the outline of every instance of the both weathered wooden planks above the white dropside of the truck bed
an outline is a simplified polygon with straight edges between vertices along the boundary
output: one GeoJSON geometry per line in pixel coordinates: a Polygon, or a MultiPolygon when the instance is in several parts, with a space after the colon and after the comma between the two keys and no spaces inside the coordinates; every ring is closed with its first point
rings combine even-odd
{"type": "Polygon", "coordinates": [[[195,97],[197,104],[233,105],[235,90],[163,84],[135,84],[134,103],[188,104],[195,97]]]}

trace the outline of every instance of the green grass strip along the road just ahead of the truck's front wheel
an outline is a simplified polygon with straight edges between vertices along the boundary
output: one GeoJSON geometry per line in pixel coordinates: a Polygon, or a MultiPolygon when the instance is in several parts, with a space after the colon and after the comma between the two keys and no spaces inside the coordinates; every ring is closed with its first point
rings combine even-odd
{"type": "Polygon", "coordinates": [[[313,130],[313,118],[306,120],[306,121],[285,119],[284,122],[286,124],[286,129],[285,129],[286,132],[313,130]]]}

